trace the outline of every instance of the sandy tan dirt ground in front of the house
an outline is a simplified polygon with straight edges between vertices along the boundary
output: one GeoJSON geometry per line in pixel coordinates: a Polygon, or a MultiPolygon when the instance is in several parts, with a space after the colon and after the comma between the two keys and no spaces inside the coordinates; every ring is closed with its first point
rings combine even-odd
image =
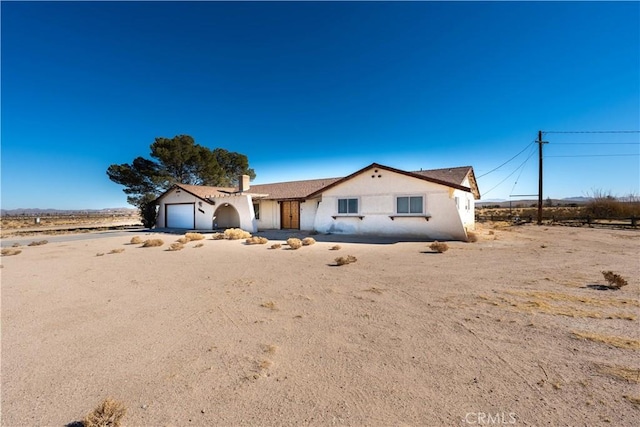
{"type": "Polygon", "coordinates": [[[165,244],[2,257],[3,426],[107,397],[126,426],[640,425],[638,231],[484,226],[442,254],[139,235],[165,244]]]}

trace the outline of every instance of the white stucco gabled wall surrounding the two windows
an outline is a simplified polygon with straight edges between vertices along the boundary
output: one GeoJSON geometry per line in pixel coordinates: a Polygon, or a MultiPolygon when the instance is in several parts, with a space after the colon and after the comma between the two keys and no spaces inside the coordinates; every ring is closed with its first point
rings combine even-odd
{"type": "Polygon", "coordinates": [[[314,228],[322,233],[466,239],[453,189],[384,169],[375,170],[371,168],[324,192],[317,207],[314,228]],[[429,220],[398,215],[397,196],[422,196],[423,213],[431,216],[429,220]],[[332,216],[338,215],[338,199],[342,198],[357,198],[358,213],[333,219],[332,216]],[[390,216],[396,217],[391,219],[390,216]]]}

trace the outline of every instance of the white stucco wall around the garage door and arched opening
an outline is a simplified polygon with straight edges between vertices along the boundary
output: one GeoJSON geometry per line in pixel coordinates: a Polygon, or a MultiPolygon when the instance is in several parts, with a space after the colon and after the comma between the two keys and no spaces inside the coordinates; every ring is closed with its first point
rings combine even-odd
{"type": "Polygon", "coordinates": [[[249,232],[255,232],[257,230],[251,196],[240,194],[227,197],[216,197],[214,200],[215,205],[212,205],[180,188],[174,188],[165,194],[160,200],[156,227],[166,227],[165,205],[173,203],[194,203],[195,229],[212,230],[215,222],[215,210],[218,207],[223,206],[224,203],[229,203],[229,205],[233,206],[238,211],[238,215],[240,217],[240,228],[249,232]]]}

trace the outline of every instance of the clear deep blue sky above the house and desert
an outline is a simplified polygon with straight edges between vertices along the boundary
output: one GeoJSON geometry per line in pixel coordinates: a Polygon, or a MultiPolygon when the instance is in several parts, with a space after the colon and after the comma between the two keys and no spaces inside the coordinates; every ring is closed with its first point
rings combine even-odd
{"type": "MultiPolygon", "coordinates": [[[[105,171],[158,136],[244,153],[255,183],[372,162],[481,176],[524,149],[479,179],[507,199],[537,192],[537,155],[518,167],[538,130],[640,129],[638,2],[3,1],[1,14],[4,209],[127,206],[105,171]]],[[[544,139],[545,197],[639,193],[637,133],[544,139]],[[576,155],[598,157],[551,157],[576,155]]]]}

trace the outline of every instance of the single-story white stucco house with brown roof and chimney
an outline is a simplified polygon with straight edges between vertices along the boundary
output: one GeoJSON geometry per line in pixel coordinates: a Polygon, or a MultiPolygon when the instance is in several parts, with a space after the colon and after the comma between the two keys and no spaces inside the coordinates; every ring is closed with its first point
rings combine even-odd
{"type": "Polygon", "coordinates": [[[238,188],[176,184],[158,199],[156,227],[315,230],[464,240],[480,198],[471,166],[407,172],[373,163],[343,178],[238,188]]]}

